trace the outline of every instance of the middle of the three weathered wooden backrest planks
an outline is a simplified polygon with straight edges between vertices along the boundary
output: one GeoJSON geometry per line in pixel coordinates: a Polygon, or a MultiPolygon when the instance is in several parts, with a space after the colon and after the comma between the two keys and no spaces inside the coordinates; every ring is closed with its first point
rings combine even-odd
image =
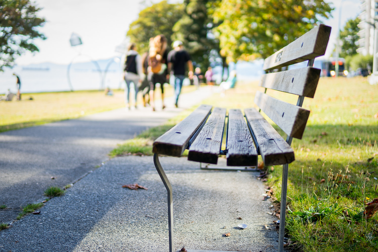
{"type": "Polygon", "coordinates": [[[263,74],[259,85],[290,94],[314,98],[320,69],[313,67],[263,74]]]}

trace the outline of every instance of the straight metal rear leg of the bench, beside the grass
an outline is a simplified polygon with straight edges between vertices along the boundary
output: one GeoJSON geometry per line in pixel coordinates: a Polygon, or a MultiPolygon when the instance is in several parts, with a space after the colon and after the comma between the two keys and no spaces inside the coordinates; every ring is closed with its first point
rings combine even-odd
{"type": "Polygon", "coordinates": [[[287,193],[287,175],[289,164],[282,166],[282,186],[281,186],[281,209],[280,209],[280,229],[278,237],[278,251],[283,251],[283,241],[285,237],[285,217],[286,217],[286,193],[287,193]]]}

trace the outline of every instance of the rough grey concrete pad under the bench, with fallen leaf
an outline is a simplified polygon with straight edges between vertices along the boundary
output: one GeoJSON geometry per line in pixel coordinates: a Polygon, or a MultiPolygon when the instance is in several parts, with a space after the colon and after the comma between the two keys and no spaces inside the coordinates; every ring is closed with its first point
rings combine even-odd
{"type": "MultiPolygon", "coordinates": [[[[160,161],[173,187],[175,250],[277,251],[276,217],[266,213],[270,202],[262,201],[257,172],[200,170],[186,158],[160,161]],[[239,229],[242,223],[248,227],[239,229]]],[[[167,223],[167,192],[152,156],[117,157],[39,215],[2,230],[0,251],[167,252],[167,223]],[[122,188],[133,183],[148,190],[122,188]]]]}

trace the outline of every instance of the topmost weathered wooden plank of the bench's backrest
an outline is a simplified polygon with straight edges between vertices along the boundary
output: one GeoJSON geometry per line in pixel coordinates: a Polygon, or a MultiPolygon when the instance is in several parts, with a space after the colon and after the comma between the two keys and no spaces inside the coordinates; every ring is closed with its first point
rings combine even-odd
{"type": "Polygon", "coordinates": [[[324,55],[330,34],[330,26],[316,26],[289,45],[267,57],[264,60],[263,70],[280,68],[324,55]]]}

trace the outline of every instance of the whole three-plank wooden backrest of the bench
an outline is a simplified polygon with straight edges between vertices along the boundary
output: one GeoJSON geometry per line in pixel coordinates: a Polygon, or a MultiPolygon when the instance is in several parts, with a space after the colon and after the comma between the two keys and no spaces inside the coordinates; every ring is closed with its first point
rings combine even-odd
{"type": "Polygon", "coordinates": [[[265,88],[265,92],[270,88],[299,96],[297,105],[275,99],[260,91],[255,96],[254,102],[260,110],[288,137],[302,139],[310,115],[309,110],[301,108],[302,102],[304,97],[314,97],[321,70],[313,68],[312,65],[315,57],[325,54],[330,33],[330,26],[316,26],[264,60],[263,70],[269,73],[262,76],[259,85],[265,88]],[[305,60],[308,60],[305,68],[271,72],[305,60]]]}

